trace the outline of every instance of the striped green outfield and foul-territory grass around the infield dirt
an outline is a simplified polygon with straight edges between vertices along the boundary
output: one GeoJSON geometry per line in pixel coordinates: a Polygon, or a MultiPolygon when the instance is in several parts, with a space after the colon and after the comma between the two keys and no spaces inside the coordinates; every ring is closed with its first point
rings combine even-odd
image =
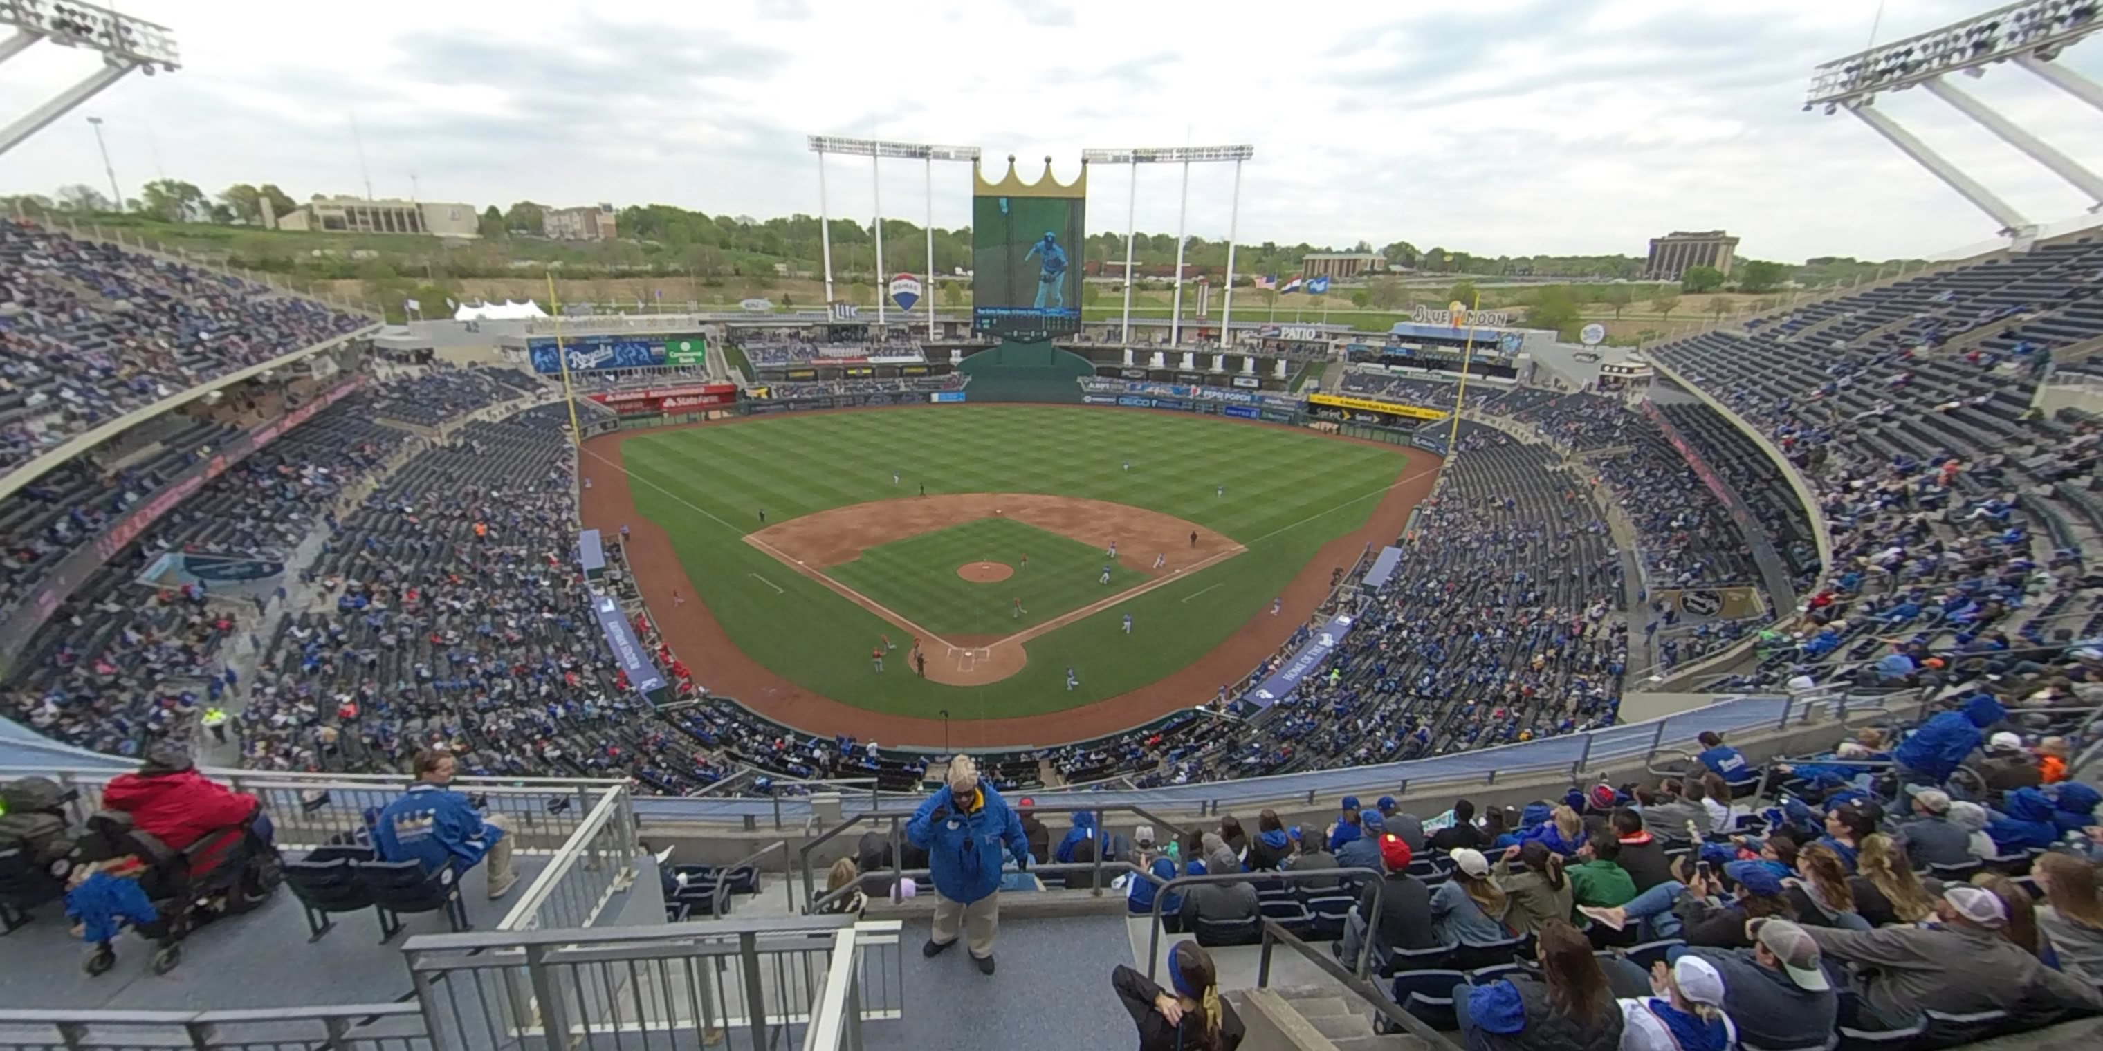
{"type": "MultiPolygon", "coordinates": [[[[1190,664],[1268,610],[1323,542],[1363,526],[1407,467],[1398,450],[1306,431],[1047,406],[761,416],[635,435],[622,444],[622,460],[637,509],[671,534],[688,580],[744,654],[848,704],[919,717],[948,708],[957,719],[1060,710],[1125,694],[1190,664]],[[1129,473],[1121,469],[1127,458],[1129,473]],[[1144,507],[1218,530],[1247,553],[1033,639],[1028,666],[997,683],[953,687],[915,675],[875,675],[869,645],[883,633],[896,637],[898,628],[824,584],[784,572],[774,557],[738,538],[761,528],[761,509],[768,523],[778,523],[896,498],[900,488],[892,471],[902,475],[906,492],[925,481],[930,494],[1041,492],[1144,507]],[[1224,498],[1216,486],[1226,486],[1224,498]],[[1134,635],[1121,631],[1127,612],[1134,635]],[[1081,677],[1073,692],[1064,689],[1068,664],[1081,677]]],[[[917,540],[885,549],[904,544],[917,547],[917,540]]],[[[930,544],[938,544],[927,549],[932,565],[900,561],[875,570],[898,578],[900,589],[919,578],[972,586],[955,568],[982,553],[955,551],[942,540],[930,544]]],[[[1039,551],[1052,547],[1028,551],[1030,574],[1041,570],[1039,551]]],[[[1089,559],[1102,555],[1083,551],[1089,559]]],[[[869,555],[877,553],[887,561],[883,549],[869,555]]],[[[1087,565],[1096,568],[1100,561],[1087,565]]],[[[1100,593],[1094,576],[1079,580],[1083,593],[1100,593]]],[[[925,595],[932,610],[942,589],[946,584],[925,595]]],[[[904,591],[898,595],[921,601],[904,591]]],[[[1001,601],[1009,597],[999,595],[1001,601]]],[[[1024,597],[1033,616],[1056,607],[1056,599],[1047,607],[1033,601],[1024,597]]],[[[1014,622],[1003,622],[984,633],[1012,628],[1014,622]]],[[[698,681],[709,681],[705,666],[694,671],[698,681]]]]}

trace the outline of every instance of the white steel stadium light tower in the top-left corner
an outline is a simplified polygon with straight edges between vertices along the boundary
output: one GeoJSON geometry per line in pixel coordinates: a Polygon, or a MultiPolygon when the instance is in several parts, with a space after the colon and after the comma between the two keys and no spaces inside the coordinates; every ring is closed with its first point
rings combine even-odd
{"type": "MultiPolygon", "coordinates": [[[[154,76],[158,71],[172,74],[183,65],[181,53],[175,48],[175,34],[168,27],[118,15],[95,4],[76,4],[72,0],[0,0],[0,25],[15,27],[13,36],[0,40],[0,63],[46,40],[61,48],[103,53],[101,69],[0,128],[0,153],[15,149],[23,139],[74,111],[74,107],[93,99],[95,92],[124,80],[124,74],[132,69],[154,76]]],[[[124,208],[124,202],[120,200],[116,206],[124,208]]]]}

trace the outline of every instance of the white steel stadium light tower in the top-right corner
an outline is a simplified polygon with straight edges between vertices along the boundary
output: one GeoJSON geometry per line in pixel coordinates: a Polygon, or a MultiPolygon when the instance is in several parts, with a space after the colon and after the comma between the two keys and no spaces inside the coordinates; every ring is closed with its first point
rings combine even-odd
{"type": "Polygon", "coordinates": [[[2021,149],[2029,160],[2074,183],[2092,202],[2090,212],[2103,210],[2103,179],[1943,80],[1945,74],[1981,78],[1989,65],[2013,61],[2067,95],[2103,107],[2103,86],[2065,65],[2048,65],[2065,48],[2103,29],[2103,21],[2097,15],[2099,11],[2092,0],[2021,0],[1943,25],[1941,29],[1857,50],[1811,71],[1804,111],[1823,107],[1828,116],[1840,109],[1855,114],[1857,120],[1899,147],[1901,153],[1992,217],[2000,225],[2000,233],[2013,238],[2015,248],[2023,250],[2038,235],[2036,223],[2000,200],[1987,185],[1928,149],[1926,143],[1899,126],[1897,120],[1880,114],[1876,97],[1886,90],[1926,88],[1928,95],[1949,103],[1958,114],[1994,132],[1996,139],[2021,149]]]}

